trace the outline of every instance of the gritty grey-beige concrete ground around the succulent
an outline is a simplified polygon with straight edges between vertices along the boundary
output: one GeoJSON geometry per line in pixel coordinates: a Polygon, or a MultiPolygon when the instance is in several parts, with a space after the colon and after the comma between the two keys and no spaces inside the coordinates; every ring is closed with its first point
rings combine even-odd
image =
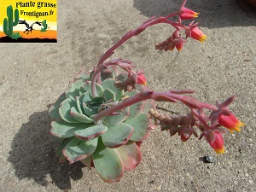
{"type": "MultiPolygon", "coordinates": [[[[154,43],[172,33],[160,25],[115,53],[144,68],[154,90],[194,89],[211,103],[237,95],[230,108],[246,126],[224,135],[226,154],[217,156],[205,141],[182,143],[154,130],[143,143],[143,162],[112,184],[80,163],[55,158],[46,106],[125,32],[178,6],[175,0],[59,1],[58,44],[0,44],[0,191],[256,191],[256,12],[235,0],[189,1],[201,13],[204,44],[189,39],[180,53],[155,51],[154,43]],[[215,163],[204,164],[204,155],[215,163]]],[[[180,105],[160,107],[186,112],[180,105]]]]}

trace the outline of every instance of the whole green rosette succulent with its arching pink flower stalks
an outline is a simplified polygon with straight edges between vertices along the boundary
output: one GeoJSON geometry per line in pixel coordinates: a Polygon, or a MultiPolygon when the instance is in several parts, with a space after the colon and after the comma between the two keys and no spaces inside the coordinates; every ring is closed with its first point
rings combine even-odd
{"type": "Polygon", "coordinates": [[[90,72],[81,71],[75,76],[58,100],[49,108],[52,122],[50,135],[60,143],[56,154],[60,162],[71,164],[80,160],[87,167],[95,167],[105,182],[118,182],[125,170],[134,169],[142,160],[140,145],[148,137],[148,131],[160,125],[161,131],[178,135],[183,142],[201,131],[199,139],[205,137],[217,154],[224,154],[225,128],[240,131],[243,123],[236,119],[228,106],[236,96],[230,96],[216,105],[200,102],[192,96],[194,90],[166,90],[155,92],[146,86],[143,70],[132,70],[135,66],[121,58],[106,61],[115,49],[131,37],[137,36],[148,26],[166,23],[176,31],[164,42],[155,45],[160,50],[181,50],[186,42],[181,37],[203,42],[207,36],[198,28],[198,23],[189,26],[182,20],[193,19],[195,11],[184,8],[183,0],[179,11],[166,17],[151,17],[141,26],[127,32],[101,57],[96,68],[90,72]],[[169,20],[178,16],[177,22],[169,20]],[[119,69],[124,70],[119,73],[119,69]],[[154,102],[182,102],[189,108],[185,115],[172,116],[159,113],[154,102]],[[211,112],[209,114],[205,113],[211,112]]]}

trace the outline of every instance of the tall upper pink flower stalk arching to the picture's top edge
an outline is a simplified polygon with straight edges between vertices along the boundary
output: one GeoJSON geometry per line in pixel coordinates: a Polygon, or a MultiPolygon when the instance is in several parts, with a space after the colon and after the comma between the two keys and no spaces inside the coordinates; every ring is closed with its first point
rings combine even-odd
{"type": "MultiPolygon", "coordinates": [[[[207,36],[204,35],[201,32],[201,30],[199,30],[199,28],[197,27],[197,24],[194,26],[192,26],[192,24],[190,24],[189,26],[184,26],[181,24],[182,19],[193,19],[198,15],[198,13],[196,13],[195,11],[185,8],[184,7],[185,3],[186,3],[186,0],[183,0],[180,10],[170,15],[167,15],[166,17],[156,18],[155,16],[153,16],[149,18],[148,20],[144,21],[141,26],[138,26],[136,29],[127,32],[122,38],[120,38],[120,40],[116,44],[114,44],[110,49],[108,49],[102,55],[100,61],[98,62],[96,72],[92,76],[92,79],[91,79],[92,96],[96,96],[96,80],[98,83],[101,82],[100,73],[102,71],[101,66],[104,65],[104,61],[106,61],[111,55],[113,55],[114,50],[119,48],[120,45],[124,44],[130,38],[137,36],[141,32],[145,31],[148,26],[154,26],[160,23],[166,23],[168,25],[173,26],[176,29],[176,31],[173,32],[170,38],[167,38],[166,41],[162,42],[161,44],[155,45],[155,49],[160,49],[160,50],[164,49],[165,51],[172,50],[175,47],[177,48],[178,51],[183,49],[183,44],[185,43],[185,41],[184,41],[184,38],[180,37],[181,30],[186,31],[186,38],[195,38],[196,40],[203,42],[207,38],[207,36]],[[169,20],[172,17],[177,15],[179,15],[179,19],[177,20],[177,22],[169,20]]],[[[110,65],[112,65],[112,63],[110,65]]],[[[126,64],[125,66],[119,65],[119,67],[126,67],[126,64]]]]}

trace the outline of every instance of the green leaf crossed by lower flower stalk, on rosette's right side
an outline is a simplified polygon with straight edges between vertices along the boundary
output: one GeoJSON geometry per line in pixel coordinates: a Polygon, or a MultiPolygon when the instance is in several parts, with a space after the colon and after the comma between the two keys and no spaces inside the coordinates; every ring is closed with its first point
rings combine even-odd
{"type": "MultiPolygon", "coordinates": [[[[131,90],[131,92],[126,92],[125,95],[126,96],[135,96],[138,93],[139,93],[138,90],[131,90]]],[[[137,102],[137,103],[129,106],[129,108],[130,108],[130,115],[125,120],[136,118],[143,111],[143,107],[144,107],[144,101],[143,102],[137,102]]]]}

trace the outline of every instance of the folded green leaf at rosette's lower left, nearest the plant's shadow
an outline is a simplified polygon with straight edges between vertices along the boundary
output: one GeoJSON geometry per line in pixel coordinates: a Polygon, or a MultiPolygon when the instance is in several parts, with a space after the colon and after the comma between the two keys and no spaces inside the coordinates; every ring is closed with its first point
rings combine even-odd
{"type": "Polygon", "coordinates": [[[98,143],[98,138],[92,139],[90,141],[82,141],[77,137],[73,137],[70,143],[63,149],[62,153],[70,164],[78,160],[83,160],[86,157],[89,157],[96,150],[98,143]]]}

